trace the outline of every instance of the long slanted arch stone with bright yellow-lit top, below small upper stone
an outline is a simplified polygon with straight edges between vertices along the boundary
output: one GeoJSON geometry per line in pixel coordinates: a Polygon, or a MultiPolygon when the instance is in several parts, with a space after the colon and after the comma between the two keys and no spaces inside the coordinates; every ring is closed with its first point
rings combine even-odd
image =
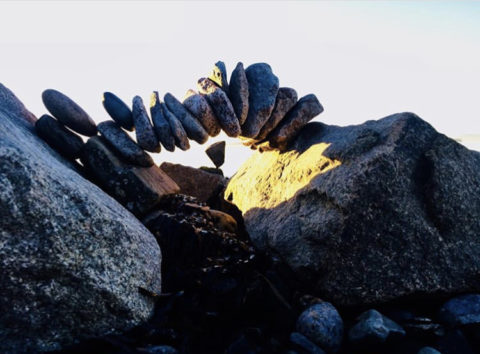
{"type": "Polygon", "coordinates": [[[205,95],[223,131],[230,137],[239,136],[240,123],[225,91],[206,78],[198,80],[198,90],[205,95]]]}

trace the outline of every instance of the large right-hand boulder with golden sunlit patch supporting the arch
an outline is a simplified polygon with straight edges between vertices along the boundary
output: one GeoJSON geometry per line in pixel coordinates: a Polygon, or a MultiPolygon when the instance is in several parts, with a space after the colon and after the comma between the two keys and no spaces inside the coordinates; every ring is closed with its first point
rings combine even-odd
{"type": "Polygon", "coordinates": [[[414,114],[310,123],[225,196],[257,247],[335,304],[480,290],[480,153],[414,114]]]}

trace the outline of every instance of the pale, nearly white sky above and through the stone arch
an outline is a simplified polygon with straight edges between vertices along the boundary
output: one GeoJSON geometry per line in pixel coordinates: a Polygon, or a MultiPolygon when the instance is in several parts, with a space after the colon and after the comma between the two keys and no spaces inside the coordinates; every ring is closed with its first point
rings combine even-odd
{"type": "MultiPolygon", "coordinates": [[[[410,111],[480,150],[480,2],[0,1],[0,82],[37,116],[47,88],[96,122],[104,91],[182,98],[218,60],[228,74],[269,63],[280,86],[318,97],[315,120],[410,111]]],[[[213,166],[204,150],[220,140],[231,175],[252,152],[223,134],[155,160],[213,166]]]]}

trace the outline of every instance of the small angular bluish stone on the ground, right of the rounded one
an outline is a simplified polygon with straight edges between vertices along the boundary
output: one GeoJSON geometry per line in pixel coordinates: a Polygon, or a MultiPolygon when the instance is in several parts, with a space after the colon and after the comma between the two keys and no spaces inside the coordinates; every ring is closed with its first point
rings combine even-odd
{"type": "Polygon", "coordinates": [[[376,310],[368,310],[358,317],[358,322],[348,332],[353,343],[384,343],[405,336],[405,330],[376,310]]]}

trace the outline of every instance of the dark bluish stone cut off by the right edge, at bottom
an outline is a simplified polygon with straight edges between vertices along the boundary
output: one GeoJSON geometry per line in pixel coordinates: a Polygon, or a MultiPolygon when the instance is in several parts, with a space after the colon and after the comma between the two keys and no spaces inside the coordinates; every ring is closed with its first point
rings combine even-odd
{"type": "Polygon", "coordinates": [[[480,324],[480,295],[461,295],[447,301],[438,317],[451,327],[480,324]]]}

